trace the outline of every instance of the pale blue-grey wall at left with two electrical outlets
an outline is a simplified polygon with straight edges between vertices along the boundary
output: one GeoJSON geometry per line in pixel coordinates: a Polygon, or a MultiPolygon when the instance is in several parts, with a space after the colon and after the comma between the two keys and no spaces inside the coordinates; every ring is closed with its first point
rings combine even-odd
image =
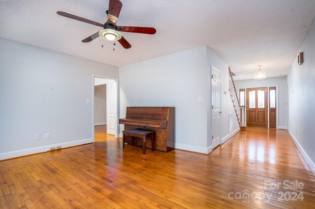
{"type": "Polygon", "coordinates": [[[93,74],[118,78],[119,71],[0,39],[0,159],[93,142],[93,74]]]}

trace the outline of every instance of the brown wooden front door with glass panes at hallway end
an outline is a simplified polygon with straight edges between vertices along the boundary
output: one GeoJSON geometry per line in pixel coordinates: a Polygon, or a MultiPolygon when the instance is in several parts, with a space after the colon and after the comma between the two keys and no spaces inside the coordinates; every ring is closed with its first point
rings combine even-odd
{"type": "Polygon", "coordinates": [[[247,125],[268,127],[268,88],[248,88],[246,91],[247,125]]]}

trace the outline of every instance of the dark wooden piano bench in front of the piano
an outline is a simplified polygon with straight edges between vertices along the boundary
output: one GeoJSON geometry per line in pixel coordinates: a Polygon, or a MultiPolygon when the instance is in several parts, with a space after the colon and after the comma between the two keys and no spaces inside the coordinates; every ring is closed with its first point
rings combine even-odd
{"type": "Polygon", "coordinates": [[[123,131],[123,149],[125,149],[125,139],[126,136],[131,136],[131,146],[134,145],[134,138],[142,138],[143,143],[143,155],[146,154],[146,139],[147,137],[151,138],[152,151],[156,149],[156,133],[154,131],[145,131],[139,129],[129,129],[123,131]]]}

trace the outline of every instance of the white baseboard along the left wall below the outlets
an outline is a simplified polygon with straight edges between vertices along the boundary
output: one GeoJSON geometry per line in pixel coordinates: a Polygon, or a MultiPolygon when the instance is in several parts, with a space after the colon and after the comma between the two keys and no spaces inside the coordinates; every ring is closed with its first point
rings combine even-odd
{"type": "Polygon", "coordinates": [[[32,155],[36,153],[43,153],[49,150],[49,148],[51,147],[61,146],[62,148],[66,148],[66,147],[73,147],[73,146],[78,146],[78,145],[88,144],[88,143],[93,143],[93,142],[94,142],[93,138],[89,138],[89,139],[82,139],[82,140],[77,140],[77,141],[51,144],[47,146],[35,147],[35,148],[30,148],[30,149],[25,149],[25,150],[18,150],[18,151],[13,151],[13,152],[8,152],[8,153],[0,153],[0,160],[10,159],[13,157],[22,157],[22,156],[32,155]]]}

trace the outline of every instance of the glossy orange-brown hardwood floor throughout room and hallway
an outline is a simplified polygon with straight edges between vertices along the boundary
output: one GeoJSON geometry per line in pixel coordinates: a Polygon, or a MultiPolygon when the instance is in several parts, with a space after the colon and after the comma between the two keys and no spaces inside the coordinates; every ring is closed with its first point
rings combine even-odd
{"type": "Polygon", "coordinates": [[[0,208],[315,208],[315,178],[287,131],[248,128],[205,156],[142,155],[103,130],[94,144],[1,161],[0,208]]]}

